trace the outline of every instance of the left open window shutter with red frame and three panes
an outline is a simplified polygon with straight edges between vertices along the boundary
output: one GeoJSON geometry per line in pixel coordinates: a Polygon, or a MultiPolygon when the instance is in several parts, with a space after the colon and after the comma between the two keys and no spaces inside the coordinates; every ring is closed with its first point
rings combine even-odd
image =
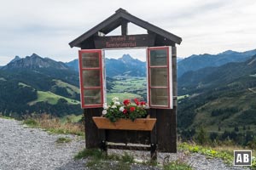
{"type": "Polygon", "coordinates": [[[102,50],[79,50],[79,76],[82,108],[103,105],[102,50]]]}

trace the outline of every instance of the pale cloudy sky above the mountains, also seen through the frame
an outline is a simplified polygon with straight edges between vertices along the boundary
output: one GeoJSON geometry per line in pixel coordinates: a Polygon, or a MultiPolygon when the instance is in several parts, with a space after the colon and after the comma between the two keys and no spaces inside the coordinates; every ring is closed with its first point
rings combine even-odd
{"type": "MultiPolygon", "coordinates": [[[[15,55],[33,53],[63,62],[77,59],[79,48],[68,43],[118,8],[182,37],[178,57],[256,47],[255,0],[0,0],[0,4],[0,65],[15,55]]],[[[144,32],[129,25],[129,34],[144,32]]],[[[106,56],[130,53],[140,58],[145,50],[108,50],[106,56]]]]}

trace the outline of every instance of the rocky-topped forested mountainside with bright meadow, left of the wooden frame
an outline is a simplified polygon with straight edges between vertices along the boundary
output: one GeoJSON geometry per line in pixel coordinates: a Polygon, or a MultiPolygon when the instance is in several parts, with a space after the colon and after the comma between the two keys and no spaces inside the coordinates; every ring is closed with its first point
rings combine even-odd
{"type": "Polygon", "coordinates": [[[80,114],[79,75],[62,62],[32,54],[0,69],[0,113],[20,117],[80,114]]]}

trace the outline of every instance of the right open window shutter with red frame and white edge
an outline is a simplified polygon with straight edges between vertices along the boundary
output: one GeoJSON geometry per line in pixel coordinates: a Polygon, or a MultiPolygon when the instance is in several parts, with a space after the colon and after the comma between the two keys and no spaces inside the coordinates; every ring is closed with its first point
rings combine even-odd
{"type": "Polygon", "coordinates": [[[170,47],[148,48],[150,108],[172,109],[172,54],[170,47]]]}

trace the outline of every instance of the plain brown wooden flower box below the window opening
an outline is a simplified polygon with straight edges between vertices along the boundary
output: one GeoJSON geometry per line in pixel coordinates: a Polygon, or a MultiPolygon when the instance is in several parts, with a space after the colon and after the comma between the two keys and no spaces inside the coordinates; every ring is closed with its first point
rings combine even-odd
{"type": "Polygon", "coordinates": [[[152,131],[156,122],[155,118],[137,118],[133,122],[131,119],[119,119],[117,122],[110,122],[108,118],[102,116],[92,117],[96,123],[96,127],[100,129],[115,129],[115,130],[141,130],[152,131]]]}

